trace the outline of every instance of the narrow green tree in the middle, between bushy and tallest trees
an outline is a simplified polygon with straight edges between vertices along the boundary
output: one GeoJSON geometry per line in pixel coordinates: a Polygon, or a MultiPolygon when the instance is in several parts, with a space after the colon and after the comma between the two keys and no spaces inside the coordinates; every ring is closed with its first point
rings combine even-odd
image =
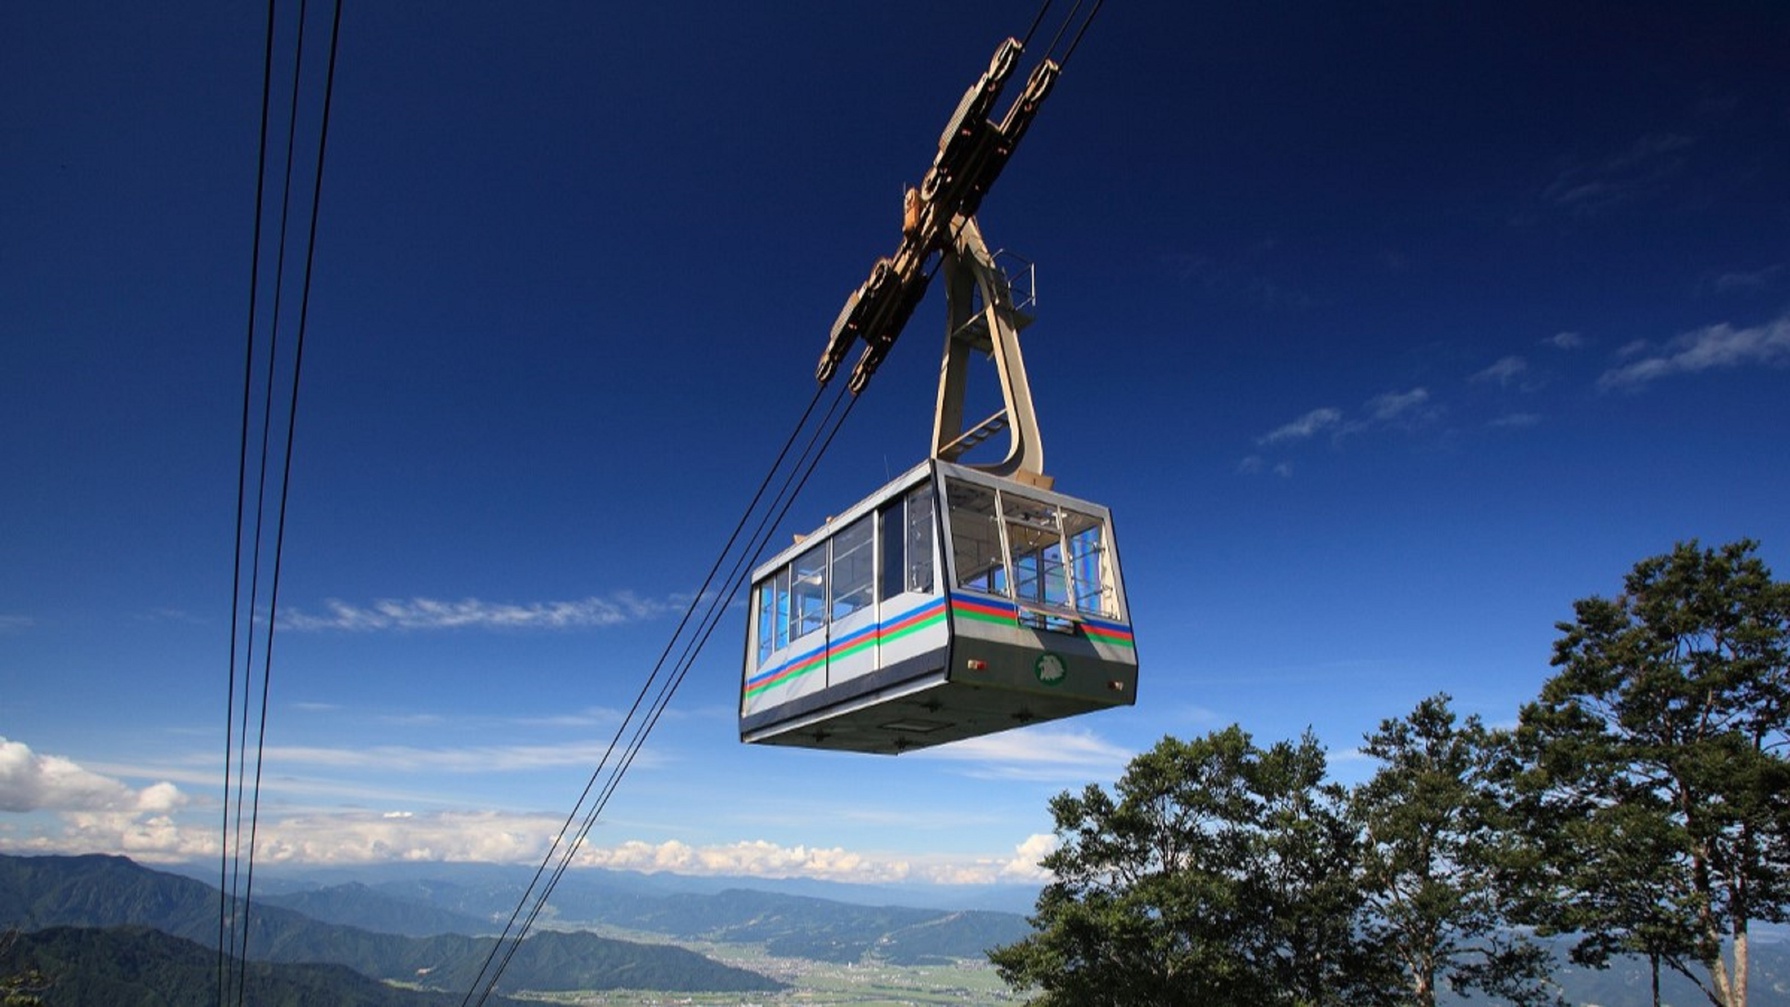
{"type": "Polygon", "coordinates": [[[1491,732],[1479,717],[1457,723],[1448,696],[1432,696],[1382,721],[1362,751],[1380,762],[1351,796],[1364,932],[1396,962],[1402,1003],[1436,1007],[1443,982],[1520,1005],[1557,1002],[1547,948],[1511,928],[1491,732]]]}

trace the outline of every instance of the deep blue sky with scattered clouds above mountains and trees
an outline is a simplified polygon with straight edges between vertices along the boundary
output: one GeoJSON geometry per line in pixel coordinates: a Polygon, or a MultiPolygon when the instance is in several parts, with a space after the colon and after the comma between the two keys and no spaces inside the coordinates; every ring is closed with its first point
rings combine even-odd
{"type": "MultiPolygon", "coordinates": [[[[539,860],[1035,13],[641,7],[344,18],[263,860],[539,860]]],[[[261,30],[0,9],[5,851],[217,855],[261,30]]],[[[1310,728],[1360,778],[1428,694],[1509,723],[1643,556],[1790,576],[1786,50],[1776,4],[1108,4],[981,225],[1038,263],[1138,705],[743,748],[729,624],[585,862],[1031,880],[1049,796],[1165,733],[1310,728]]],[[[922,458],[942,315],[786,533],[922,458]]]]}

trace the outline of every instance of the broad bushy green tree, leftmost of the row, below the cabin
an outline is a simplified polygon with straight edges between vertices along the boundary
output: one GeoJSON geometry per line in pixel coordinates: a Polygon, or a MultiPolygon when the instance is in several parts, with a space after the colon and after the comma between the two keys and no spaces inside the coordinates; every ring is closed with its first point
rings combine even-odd
{"type": "Polygon", "coordinates": [[[1307,735],[1164,739],[1108,792],[1051,801],[1056,880],[990,952],[1042,1007],[1375,1003],[1353,927],[1353,830],[1307,735]]]}

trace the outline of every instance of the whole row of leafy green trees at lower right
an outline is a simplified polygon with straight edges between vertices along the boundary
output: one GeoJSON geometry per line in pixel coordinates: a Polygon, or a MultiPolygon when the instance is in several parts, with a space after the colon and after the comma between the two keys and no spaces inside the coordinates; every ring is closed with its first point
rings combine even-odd
{"type": "Polygon", "coordinates": [[[1518,728],[1432,696],[1326,780],[1307,733],[1162,739],[1051,801],[1035,932],[990,952],[1033,1003],[1559,1002],[1548,948],[1640,955],[1747,1005],[1752,923],[1790,921],[1790,585],[1754,542],[1636,563],[1559,622],[1518,728]]]}

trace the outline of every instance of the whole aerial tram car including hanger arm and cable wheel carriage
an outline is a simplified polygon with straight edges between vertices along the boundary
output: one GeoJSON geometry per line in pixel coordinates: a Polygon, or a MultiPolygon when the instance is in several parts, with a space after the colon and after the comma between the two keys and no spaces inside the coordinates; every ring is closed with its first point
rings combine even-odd
{"type": "Polygon", "coordinates": [[[1112,515],[1044,474],[1019,349],[1029,267],[1010,275],[974,218],[1058,73],[1044,59],[990,122],[1020,48],[1008,39],[963,97],[908,193],[900,247],[847,299],[816,370],[825,383],[863,340],[861,392],[936,254],[947,334],[933,454],[754,571],[741,740],[900,753],[1137,699],[1112,515]],[[976,358],[993,361],[1001,408],[965,426],[976,358]],[[963,461],[1002,433],[1001,460],[963,461]]]}

